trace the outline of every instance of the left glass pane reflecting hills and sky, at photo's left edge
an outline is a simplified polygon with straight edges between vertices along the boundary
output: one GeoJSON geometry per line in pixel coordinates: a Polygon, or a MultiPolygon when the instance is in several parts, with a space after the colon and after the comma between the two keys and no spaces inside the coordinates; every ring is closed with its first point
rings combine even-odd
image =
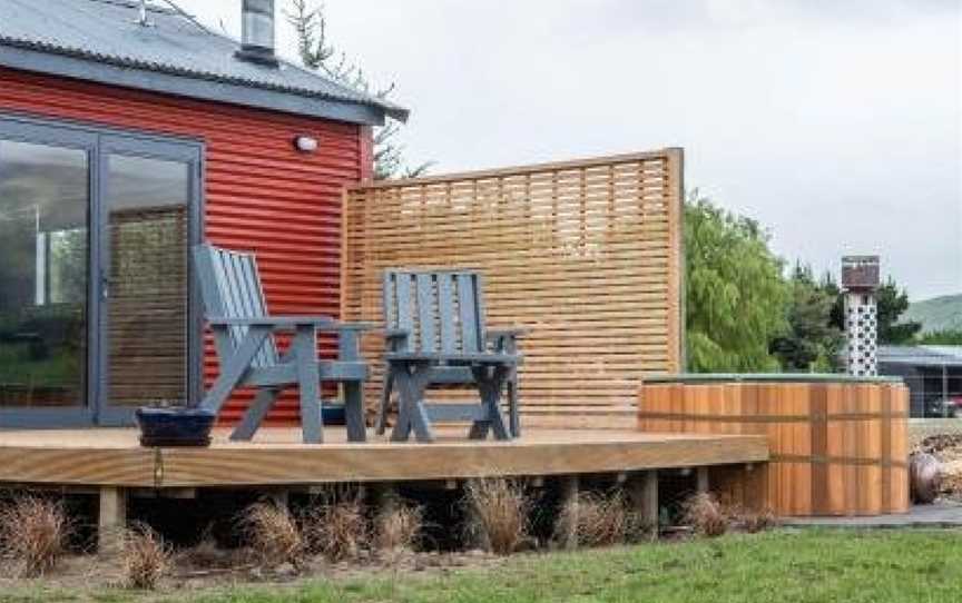
{"type": "Polygon", "coordinates": [[[0,140],[0,406],[85,403],[88,168],[0,140]]]}

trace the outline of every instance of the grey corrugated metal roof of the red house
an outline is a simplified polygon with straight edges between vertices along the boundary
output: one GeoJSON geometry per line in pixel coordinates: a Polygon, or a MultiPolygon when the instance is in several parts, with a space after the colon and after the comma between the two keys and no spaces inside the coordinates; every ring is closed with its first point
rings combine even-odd
{"type": "Polygon", "coordinates": [[[171,9],[148,4],[150,24],[138,24],[137,6],[0,0],[0,65],[362,123],[408,117],[283,59],[276,68],[237,59],[239,42],[171,9]]]}

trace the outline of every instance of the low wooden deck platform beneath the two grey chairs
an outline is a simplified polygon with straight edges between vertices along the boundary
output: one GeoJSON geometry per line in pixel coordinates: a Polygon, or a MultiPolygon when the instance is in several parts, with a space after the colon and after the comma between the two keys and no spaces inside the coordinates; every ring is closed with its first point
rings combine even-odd
{"type": "Polygon", "coordinates": [[[763,436],[536,429],[514,442],[472,442],[442,429],[434,444],[371,436],[304,445],[300,429],[267,428],[254,442],[217,432],[209,448],[141,448],[135,429],[0,431],[0,484],[178,488],[337,482],[577,475],[763,462],[763,436]]]}

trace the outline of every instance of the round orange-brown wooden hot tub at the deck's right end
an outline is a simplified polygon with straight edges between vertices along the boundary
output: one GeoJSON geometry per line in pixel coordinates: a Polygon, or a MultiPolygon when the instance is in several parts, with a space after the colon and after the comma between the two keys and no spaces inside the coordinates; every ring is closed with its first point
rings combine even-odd
{"type": "Polygon", "coordinates": [[[646,383],[639,427],[767,435],[770,461],[754,472],[752,487],[748,480],[713,484],[723,493],[735,485],[727,494],[737,503],[767,504],[782,516],[909,510],[909,391],[901,382],[744,379],[646,383]]]}

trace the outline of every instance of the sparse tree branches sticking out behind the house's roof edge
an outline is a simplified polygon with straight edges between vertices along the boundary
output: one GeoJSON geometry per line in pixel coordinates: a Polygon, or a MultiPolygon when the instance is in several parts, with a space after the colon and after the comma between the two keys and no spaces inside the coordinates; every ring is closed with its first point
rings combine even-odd
{"type": "MultiPolygon", "coordinates": [[[[327,38],[327,20],[323,4],[314,0],[291,0],[286,10],[287,21],[297,34],[297,55],[308,69],[321,71],[332,80],[386,100],[394,92],[394,85],[375,88],[364,70],[351,61],[345,52],[338,52],[327,38]]],[[[404,148],[397,141],[401,122],[386,118],[383,127],[374,129],[374,179],[403,177],[415,178],[426,174],[431,161],[411,167],[403,157],[404,148]]]]}

